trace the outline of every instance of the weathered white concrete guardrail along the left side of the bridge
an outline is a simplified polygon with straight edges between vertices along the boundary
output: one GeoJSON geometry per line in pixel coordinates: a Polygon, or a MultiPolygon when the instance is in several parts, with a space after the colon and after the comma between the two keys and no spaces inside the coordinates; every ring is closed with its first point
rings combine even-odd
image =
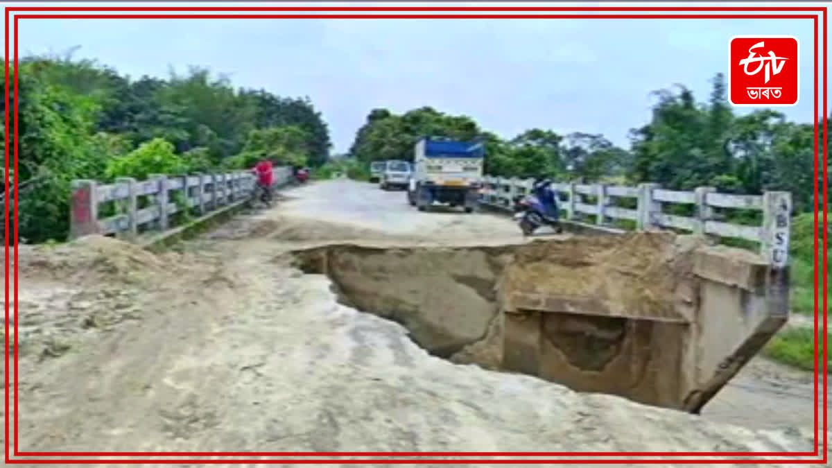
{"type": "MultiPolygon", "coordinates": [[[[290,182],[290,167],[275,167],[275,184],[290,182]]],[[[92,180],[72,182],[70,238],[89,234],[136,236],[141,228],[164,232],[171,215],[193,210],[201,216],[251,197],[255,176],[247,171],[187,176],[154,174],[146,181],[131,177],[99,185],[92,180]],[[171,193],[174,192],[174,193],[171,193]],[[140,200],[143,202],[140,203],[140,200]],[[115,214],[99,218],[100,206],[115,202],[115,214]],[[139,207],[139,205],[146,205],[139,207]]]]}

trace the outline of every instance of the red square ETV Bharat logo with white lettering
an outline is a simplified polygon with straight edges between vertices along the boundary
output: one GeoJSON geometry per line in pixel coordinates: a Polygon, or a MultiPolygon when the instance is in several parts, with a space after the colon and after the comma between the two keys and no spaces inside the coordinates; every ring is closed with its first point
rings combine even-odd
{"type": "Polygon", "coordinates": [[[728,81],[735,106],[794,106],[800,97],[797,38],[732,37],[728,81]]]}

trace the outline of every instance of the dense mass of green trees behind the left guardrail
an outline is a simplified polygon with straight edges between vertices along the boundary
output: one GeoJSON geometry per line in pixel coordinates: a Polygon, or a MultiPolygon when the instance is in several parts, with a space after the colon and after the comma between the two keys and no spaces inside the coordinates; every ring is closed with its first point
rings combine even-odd
{"type": "Polygon", "coordinates": [[[320,165],[329,157],[329,131],[307,98],[236,90],[225,77],[211,77],[202,68],[171,73],[167,80],[131,80],[71,55],[24,57],[18,68],[17,180],[25,187],[18,202],[24,241],[66,238],[73,179],[208,172],[227,166],[223,163],[243,150],[250,132],[267,127],[291,127],[279,131],[285,142],[280,160],[308,158],[320,165]],[[301,142],[296,128],[302,129],[301,142]]]}

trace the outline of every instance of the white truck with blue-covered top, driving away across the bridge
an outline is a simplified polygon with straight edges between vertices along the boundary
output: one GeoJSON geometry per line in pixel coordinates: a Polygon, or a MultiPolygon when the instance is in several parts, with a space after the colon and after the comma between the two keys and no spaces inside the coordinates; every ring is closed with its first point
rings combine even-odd
{"type": "Polygon", "coordinates": [[[420,138],[414,147],[408,202],[420,212],[437,203],[473,212],[479,202],[484,161],[482,142],[420,138]]]}

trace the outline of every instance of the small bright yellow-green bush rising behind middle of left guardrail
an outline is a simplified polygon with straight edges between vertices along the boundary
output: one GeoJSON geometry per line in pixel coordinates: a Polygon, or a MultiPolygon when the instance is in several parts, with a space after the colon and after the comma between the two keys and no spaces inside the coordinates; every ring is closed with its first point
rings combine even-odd
{"type": "Polygon", "coordinates": [[[188,166],[173,152],[173,144],[161,138],[142,143],[136,150],[107,162],[106,177],[136,177],[144,180],[151,174],[184,174],[188,166]]]}

